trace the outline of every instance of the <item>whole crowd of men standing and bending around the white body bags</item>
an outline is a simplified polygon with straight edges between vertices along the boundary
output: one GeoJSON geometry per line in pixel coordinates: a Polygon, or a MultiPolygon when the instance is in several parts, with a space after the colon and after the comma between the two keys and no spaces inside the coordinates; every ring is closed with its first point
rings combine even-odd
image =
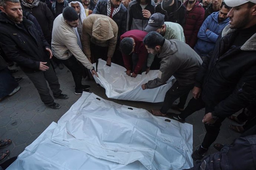
{"type": "MultiPolygon", "coordinates": [[[[68,99],[54,69],[65,65],[70,70],[79,95],[89,92],[82,78],[98,76],[92,63],[102,58],[109,67],[112,62],[124,66],[134,78],[159,69],[158,77],[143,84],[143,90],[164,85],[175,76],[162,108],[152,110],[152,115],[184,123],[205,108],[206,135],[192,154],[194,160],[203,158],[221,122],[233,113],[247,108],[254,121],[248,127],[255,125],[256,0],[0,2],[1,55],[6,62],[19,64],[42,102],[52,109],[60,108],[53,97],[68,99]],[[193,98],[185,108],[191,90],[193,98]],[[178,105],[172,105],[178,98],[178,105]],[[181,113],[169,113],[170,106],[181,113]]],[[[3,63],[1,99],[20,89],[3,63]]]]}

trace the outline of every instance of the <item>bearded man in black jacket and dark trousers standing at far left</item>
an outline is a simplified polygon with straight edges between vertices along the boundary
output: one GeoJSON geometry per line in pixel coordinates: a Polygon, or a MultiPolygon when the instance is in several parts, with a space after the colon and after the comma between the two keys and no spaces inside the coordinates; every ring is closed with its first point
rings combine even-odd
{"type": "Polygon", "coordinates": [[[23,17],[19,0],[1,0],[0,9],[1,48],[33,82],[43,103],[49,108],[59,109],[60,105],[50,95],[46,80],[55,98],[68,99],[68,96],[61,93],[58,78],[50,65],[50,45],[35,25],[23,17]]]}

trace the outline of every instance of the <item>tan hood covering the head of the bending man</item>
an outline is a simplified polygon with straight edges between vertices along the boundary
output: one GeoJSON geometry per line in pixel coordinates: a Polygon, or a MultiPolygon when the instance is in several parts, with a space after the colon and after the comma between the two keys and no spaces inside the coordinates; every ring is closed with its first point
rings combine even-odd
{"type": "Polygon", "coordinates": [[[106,41],[114,37],[113,28],[107,18],[98,18],[92,26],[92,36],[106,41]]]}

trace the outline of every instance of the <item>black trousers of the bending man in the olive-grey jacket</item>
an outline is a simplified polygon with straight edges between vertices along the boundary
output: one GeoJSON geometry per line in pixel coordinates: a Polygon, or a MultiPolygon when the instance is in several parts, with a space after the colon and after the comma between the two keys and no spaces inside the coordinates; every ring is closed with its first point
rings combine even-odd
{"type": "MultiPolygon", "coordinates": [[[[176,81],[173,86],[165,93],[164,97],[164,103],[162,108],[160,109],[161,113],[167,113],[167,111],[170,109],[170,106],[173,104],[173,102],[178,98],[186,98],[187,95],[190,92],[190,90],[193,88],[194,85],[188,85],[188,86],[181,86],[179,85],[178,81],[176,81]]],[[[185,103],[186,103],[185,99],[185,103]]],[[[184,100],[183,100],[184,102],[184,100]]],[[[184,103],[184,105],[185,105],[184,103]]],[[[183,105],[183,106],[184,106],[183,105]]]]}

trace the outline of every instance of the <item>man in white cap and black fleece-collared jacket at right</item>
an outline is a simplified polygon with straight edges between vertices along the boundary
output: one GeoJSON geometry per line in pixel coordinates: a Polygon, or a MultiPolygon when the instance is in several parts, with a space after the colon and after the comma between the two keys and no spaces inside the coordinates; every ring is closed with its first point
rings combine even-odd
{"type": "Polygon", "coordinates": [[[196,75],[194,98],[180,115],[171,115],[181,122],[205,107],[206,135],[192,154],[194,160],[203,158],[225,118],[256,100],[256,0],[225,3],[233,7],[227,14],[230,22],[196,75]]]}

